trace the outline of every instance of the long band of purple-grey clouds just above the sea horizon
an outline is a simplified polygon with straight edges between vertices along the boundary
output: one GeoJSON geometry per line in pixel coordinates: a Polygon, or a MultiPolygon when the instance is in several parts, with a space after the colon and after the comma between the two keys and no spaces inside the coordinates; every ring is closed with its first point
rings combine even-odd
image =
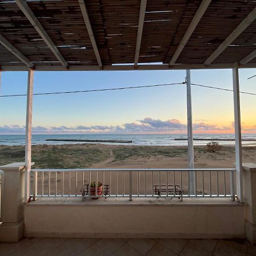
{"type": "MultiPolygon", "coordinates": [[[[203,120],[193,123],[193,130],[197,133],[204,132],[230,132],[234,130],[234,123],[230,126],[218,126],[205,123],[203,120]]],[[[0,126],[1,134],[24,134],[25,126],[19,125],[3,125],[0,126]]],[[[256,133],[256,125],[242,125],[242,131],[247,133],[256,133]]],[[[181,123],[177,119],[162,121],[160,119],[144,118],[132,123],[124,123],[117,126],[92,125],[92,126],[34,126],[32,133],[34,134],[80,134],[80,133],[186,133],[187,124],[181,123]]]]}

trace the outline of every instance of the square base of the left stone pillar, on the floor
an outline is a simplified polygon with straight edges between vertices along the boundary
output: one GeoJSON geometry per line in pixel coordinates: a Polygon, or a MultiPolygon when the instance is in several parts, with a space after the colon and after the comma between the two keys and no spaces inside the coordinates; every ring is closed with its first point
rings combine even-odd
{"type": "Polygon", "coordinates": [[[0,225],[0,242],[19,242],[23,237],[24,220],[8,223],[2,222],[0,225]]]}

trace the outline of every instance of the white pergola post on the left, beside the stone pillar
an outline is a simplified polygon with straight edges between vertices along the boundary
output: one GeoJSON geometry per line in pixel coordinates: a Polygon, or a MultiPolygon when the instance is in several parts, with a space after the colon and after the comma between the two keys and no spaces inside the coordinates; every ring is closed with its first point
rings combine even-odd
{"type": "Polygon", "coordinates": [[[28,70],[27,77],[27,115],[26,115],[26,148],[25,148],[25,203],[30,201],[31,184],[31,128],[32,128],[32,98],[33,98],[34,71],[28,70]]]}

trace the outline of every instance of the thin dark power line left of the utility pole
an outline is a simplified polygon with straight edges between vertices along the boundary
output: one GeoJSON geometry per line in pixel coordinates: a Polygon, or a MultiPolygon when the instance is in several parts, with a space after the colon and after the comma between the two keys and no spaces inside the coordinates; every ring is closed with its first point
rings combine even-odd
{"type": "MultiPolygon", "coordinates": [[[[167,86],[167,85],[178,85],[178,84],[183,84],[183,83],[182,82],[176,82],[174,84],[155,84],[155,85],[142,85],[142,86],[130,86],[130,87],[119,87],[119,88],[109,88],[109,89],[95,89],[95,90],[73,90],[71,92],[34,93],[33,96],[49,95],[49,94],[104,92],[106,90],[125,90],[125,89],[148,88],[148,87],[158,87],[158,86],[167,86]]],[[[17,97],[17,96],[27,96],[27,94],[11,94],[11,95],[2,95],[0,97],[17,97]]]]}

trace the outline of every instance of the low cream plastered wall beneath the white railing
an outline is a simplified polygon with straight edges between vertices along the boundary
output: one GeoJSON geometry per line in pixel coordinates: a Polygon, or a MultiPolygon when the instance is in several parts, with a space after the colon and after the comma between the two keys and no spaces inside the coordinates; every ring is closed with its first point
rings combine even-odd
{"type": "Polygon", "coordinates": [[[244,207],[228,199],[39,199],[24,221],[26,237],[245,237],[244,207]]]}

